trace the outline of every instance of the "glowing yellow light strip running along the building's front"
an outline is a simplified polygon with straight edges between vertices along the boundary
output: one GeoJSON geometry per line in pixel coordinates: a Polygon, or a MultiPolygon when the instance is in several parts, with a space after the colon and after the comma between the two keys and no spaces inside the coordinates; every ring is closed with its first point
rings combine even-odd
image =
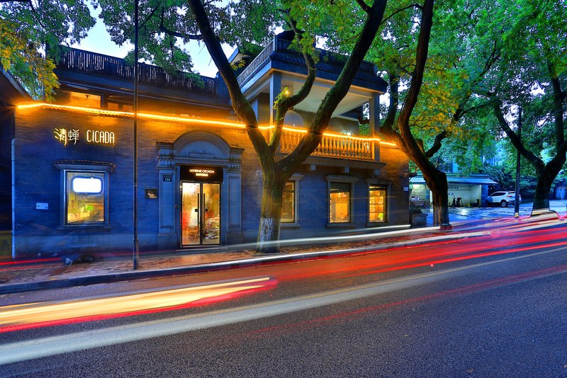
{"type": "MultiPolygon", "coordinates": [[[[82,113],[89,113],[94,115],[110,115],[115,117],[128,117],[133,118],[133,112],[121,112],[118,110],[103,110],[103,109],[96,109],[96,108],[84,108],[82,106],[72,106],[72,105],[57,105],[52,103],[26,103],[20,104],[17,106],[18,109],[29,109],[29,108],[51,108],[57,110],[67,110],[67,111],[79,111],[82,113]]],[[[246,125],[240,122],[226,122],[226,121],[217,121],[217,120],[206,120],[202,118],[183,118],[183,117],[176,117],[171,115],[158,115],[158,114],[150,114],[150,113],[137,113],[137,116],[140,118],[145,118],[148,120],[162,120],[167,122],[183,122],[183,123],[201,123],[206,125],[215,125],[215,126],[230,126],[230,127],[240,127],[245,128],[246,125]]],[[[274,129],[274,125],[265,125],[259,126],[260,130],[271,130],[274,129]]],[[[301,129],[301,128],[291,128],[291,127],[282,127],[282,130],[286,132],[297,132],[301,134],[305,134],[308,130],[301,129]]],[[[335,134],[333,132],[324,132],[323,136],[325,137],[335,137],[335,138],[343,138],[343,139],[352,139],[352,140],[361,140],[365,142],[380,142],[381,144],[385,144],[387,146],[396,147],[395,144],[390,142],[383,142],[380,138],[373,138],[373,137],[353,137],[352,135],[345,135],[345,134],[335,134]]]]}

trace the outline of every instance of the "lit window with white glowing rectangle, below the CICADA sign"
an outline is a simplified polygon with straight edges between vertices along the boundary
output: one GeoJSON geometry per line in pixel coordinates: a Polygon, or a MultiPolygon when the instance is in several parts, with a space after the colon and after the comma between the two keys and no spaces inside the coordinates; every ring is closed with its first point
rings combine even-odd
{"type": "Polygon", "coordinates": [[[65,171],[65,224],[104,224],[103,172],[65,171]]]}

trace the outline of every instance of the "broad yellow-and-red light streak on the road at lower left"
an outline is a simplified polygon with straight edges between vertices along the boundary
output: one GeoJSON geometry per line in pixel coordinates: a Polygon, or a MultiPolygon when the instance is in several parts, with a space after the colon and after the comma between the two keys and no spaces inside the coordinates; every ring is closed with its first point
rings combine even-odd
{"type": "Polygon", "coordinates": [[[69,302],[33,303],[0,307],[0,333],[26,328],[109,319],[118,316],[170,311],[234,297],[276,285],[270,277],[181,287],[69,302]]]}

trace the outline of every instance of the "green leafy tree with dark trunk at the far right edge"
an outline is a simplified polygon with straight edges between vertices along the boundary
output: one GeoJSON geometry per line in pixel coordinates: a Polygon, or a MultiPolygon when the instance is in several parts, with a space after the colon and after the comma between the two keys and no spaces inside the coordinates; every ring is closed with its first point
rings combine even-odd
{"type": "Polygon", "coordinates": [[[509,21],[501,35],[494,35],[502,57],[478,94],[493,101],[498,125],[533,166],[534,208],[543,208],[566,164],[567,4],[517,1],[496,10],[494,17],[495,22],[509,21]]]}

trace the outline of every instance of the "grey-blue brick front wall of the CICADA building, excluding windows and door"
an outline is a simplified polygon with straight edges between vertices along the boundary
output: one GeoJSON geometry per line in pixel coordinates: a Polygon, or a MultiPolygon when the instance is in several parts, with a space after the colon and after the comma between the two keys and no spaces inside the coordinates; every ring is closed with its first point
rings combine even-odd
{"type": "MultiPolygon", "coordinates": [[[[183,135],[207,132],[225,141],[240,154],[240,233],[241,241],[254,241],[259,224],[262,200],[262,173],[252,144],[243,128],[210,126],[197,123],[138,121],[138,233],[142,250],[179,248],[179,214],[175,214],[174,239],[159,244],[159,198],[145,197],[146,189],[159,188],[159,156],[157,144],[176,143],[183,135]]],[[[133,230],[133,119],[110,115],[94,115],[50,108],[29,108],[16,111],[16,193],[13,236],[18,255],[69,253],[73,248],[128,251],[133,230]],[[79,130],[76,142],[64,146],[55,138],[55,129],[79,130]],[[86,130],[113,132],[114,145],[89,144],[86,130]],[[98,162],[112,164],[108,179],[108,226],[64,226],[62,214],[62,173],[55,162],[98,162]],[[38,203],[47,210],[38,210],[38,203]]],[[[198,154],[198,152],[196,152],[198,154]]],[[[378,175],[368,169],[352,168],[341,173],[335,166],[304,165],[298,190],[298,224],[283,225],[282,239],[327,236],[352,229],[381,225],[408,224],[408,159],[393,147],[381,147],[378,175]],[[352,222],[347,226],[329,225],[327,176],[357,178],[352,193],[352,222]],[[368,185],[380,183],[388,187],[388,222],[368,223],[368,185]]],[[[214,164],[214,163],[212,163],[214,164]]],[[[226,174],[225,174],[226,177],[226,174]]],[[[172,188],[178,188],[179,177],[172,188]]],[[[158,193],[162,195],[165,193],[158,193]]],[[[229,195],[228,193],[227,195],[229,195]]],[[[173,193],[174,207],[179,207],[179,193],[173,193]]],[[[226,200],[224,198],[223,200],[226,200]]],[[[173,213],[176,213],[174,210],[173,213]]],[[[228,222],[221,214],[221,222],[228,222]]],[[[226,233],[228,230],[223,228],[226,233]]],[[[224,243],[230,242],[223,236],[224,243]]]]}

